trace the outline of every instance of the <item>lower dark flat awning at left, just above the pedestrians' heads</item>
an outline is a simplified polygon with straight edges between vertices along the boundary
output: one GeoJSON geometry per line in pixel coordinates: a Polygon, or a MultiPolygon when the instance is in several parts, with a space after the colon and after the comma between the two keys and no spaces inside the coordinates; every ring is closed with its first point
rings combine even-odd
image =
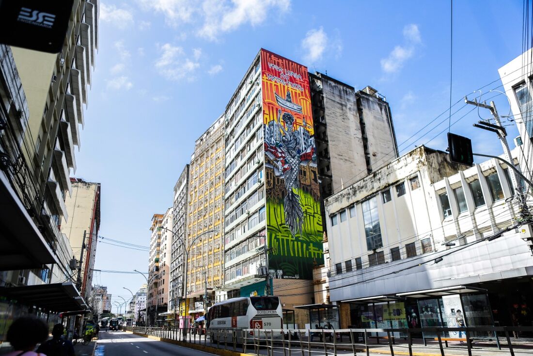
{"type": "Polygon", "coordinates": [[[71,282],[0,287],[0,296],[52,312],[77,312],[88,309],[71,282]]]}

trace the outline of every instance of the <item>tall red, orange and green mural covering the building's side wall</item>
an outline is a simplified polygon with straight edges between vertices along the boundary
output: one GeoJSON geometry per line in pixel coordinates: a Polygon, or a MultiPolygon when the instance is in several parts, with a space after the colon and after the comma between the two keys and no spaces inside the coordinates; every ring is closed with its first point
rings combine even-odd
{"type": "Polygon", "coordinates": [[[324,251],[307,68],[261,50],[261,78],[270,274],[312,279],[324,251]]]}

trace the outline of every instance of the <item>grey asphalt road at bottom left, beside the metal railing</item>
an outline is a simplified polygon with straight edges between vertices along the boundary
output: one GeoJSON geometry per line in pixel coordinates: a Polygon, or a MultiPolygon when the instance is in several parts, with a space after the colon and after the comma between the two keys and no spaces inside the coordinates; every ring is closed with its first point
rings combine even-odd
{"type": "Polygon", "coordinates": [[[95,356],[206,356],[203,351],[188,349],[122,331],[100,331],[95,356]]]}

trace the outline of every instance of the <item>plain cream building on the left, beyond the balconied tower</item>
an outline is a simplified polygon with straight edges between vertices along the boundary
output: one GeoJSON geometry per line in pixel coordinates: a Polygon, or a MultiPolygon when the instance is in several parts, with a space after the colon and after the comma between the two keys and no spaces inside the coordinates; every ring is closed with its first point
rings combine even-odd
{"type": "Polygon", "coordinates": [[[100,231],[100,183],[70,178],[72,194],[66,197],[65,206],[70,216],[61,226],[61,233],[67,235],[74,247],[74,258],[82,259],[79,291],[84,298],[91,295],[96,244],[100,231]],[[83,258],[82,247],[83,246],[83,258]]]}

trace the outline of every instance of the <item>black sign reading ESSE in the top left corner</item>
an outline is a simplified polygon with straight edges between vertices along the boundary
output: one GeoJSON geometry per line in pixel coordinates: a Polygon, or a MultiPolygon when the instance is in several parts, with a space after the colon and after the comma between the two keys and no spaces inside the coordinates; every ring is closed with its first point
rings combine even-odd
{"type": "Polygon", "coordinates": [[[74,0],[0,1],[0,43],[59,53],[74,0]]]}

